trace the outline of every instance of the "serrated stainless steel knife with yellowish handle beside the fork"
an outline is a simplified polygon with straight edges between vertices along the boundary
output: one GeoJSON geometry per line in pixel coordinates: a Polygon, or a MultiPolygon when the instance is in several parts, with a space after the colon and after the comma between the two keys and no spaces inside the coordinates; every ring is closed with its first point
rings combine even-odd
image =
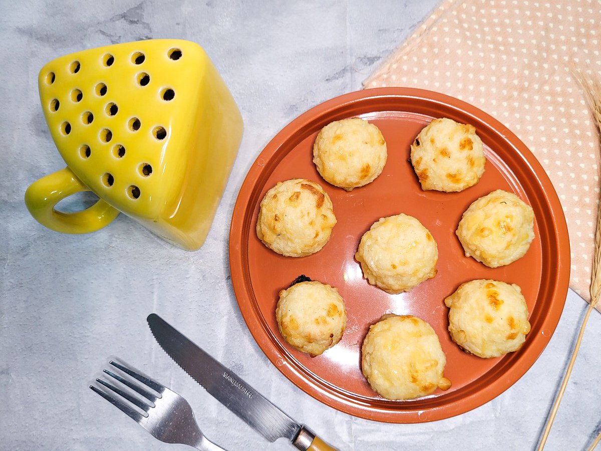
{"type": "Polygon", "coordinates": [[[160,316],[151,313],[147,321],[154,338],[175,363],[267,440],[275,441],[284,437],[303,451],[335,450],[306,426],[288,417],[160,316]]]}

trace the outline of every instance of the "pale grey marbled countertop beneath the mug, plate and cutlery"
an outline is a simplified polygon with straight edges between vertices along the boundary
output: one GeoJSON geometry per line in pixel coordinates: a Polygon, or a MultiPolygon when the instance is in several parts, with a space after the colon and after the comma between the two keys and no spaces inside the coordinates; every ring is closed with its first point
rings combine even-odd
{"type": "MultiPolygon", "coordinates": [[[[291,384],[245,326],[228,266],[237,192],[252,162],[285,124],[361,82],[436,5],[140,1],[14,3],[2,8],[0,72],[0,447],[184,449],[163,444],[88,385],[120,357],[189,400],[203,432],[230,450],[268,443],[182,372],[157,346],[156,312],[288,415],[340,449],[534,449],[584,318],[571,290],[549,345],[505,393],[460,416],[394,425],[336,411],[291,384]],[[230,87],[245,132],[204,246],[172,247],[120,215],[89,235],[44,229],[23,203],[27,186],[64,167],[44,121],[37,73],[53,58],[145,38],[184,38],[207,51],[230,87]]],[[[90,203],[75,197],[67,209],[90,203]]],[[[586,449],[601,428],[601,316],[591,316],[547,449],[586,449]]]]}

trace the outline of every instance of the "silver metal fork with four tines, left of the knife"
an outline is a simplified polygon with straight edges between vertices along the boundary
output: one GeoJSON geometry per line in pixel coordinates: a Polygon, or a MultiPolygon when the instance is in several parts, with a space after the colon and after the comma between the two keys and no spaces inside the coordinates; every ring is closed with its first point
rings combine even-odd
{"type": "Polygon", "coordinates": [[[194,419],[192,408],[182,396],[120,363],[111,360],[109,364],[132,376],[138,382],[130,381],[106,369],[103,372],[136,391],[147,401],[138,399],[138,397],[132,396],[132,394],[102,379],[96,379],[96,382],[113,393],[101,390],[94,385],[90,385],[90,388],[138,422],[153,437],[165,443],[181,443],[201,451],[225,451],[222,447],[204,437],[194,419]],[[147,388],[156,391],[158,395],[150,393],[147,388]],[[123,399],[129,401],[144,413],[130,407],[126,402],[123,402],[123,399]]]}

